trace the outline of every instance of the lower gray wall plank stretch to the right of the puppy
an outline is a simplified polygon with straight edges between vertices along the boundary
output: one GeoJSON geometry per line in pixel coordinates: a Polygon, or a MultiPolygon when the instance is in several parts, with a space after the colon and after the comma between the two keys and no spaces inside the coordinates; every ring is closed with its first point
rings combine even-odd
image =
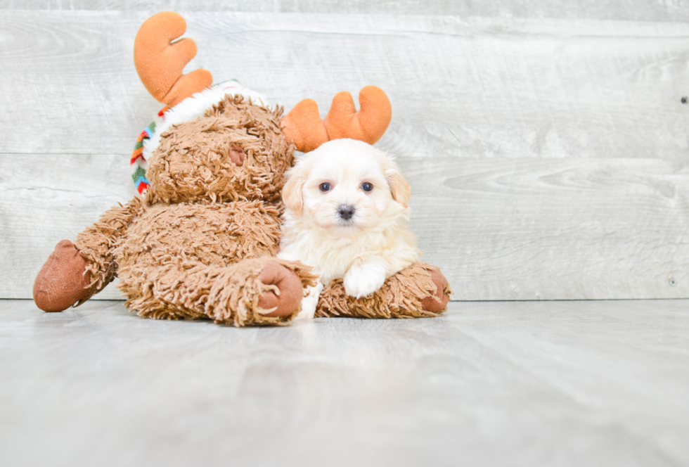
{"type": "Polygon", "coordinates": [[[687,169],[662,160],[403,160],[455,300],[689,296],[687,169]]]}

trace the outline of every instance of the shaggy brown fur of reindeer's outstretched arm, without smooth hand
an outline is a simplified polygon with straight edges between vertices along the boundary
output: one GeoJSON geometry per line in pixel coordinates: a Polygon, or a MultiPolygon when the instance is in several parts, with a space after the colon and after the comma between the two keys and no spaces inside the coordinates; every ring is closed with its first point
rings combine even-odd
{"type": "Polygon", "coordinates": [[[96,224],[77,235],[75,247],[89,263],[87,271],[91,276],[89,292],[77,305],[89,300],[94,293],[100,292],[115,279],[117,262],[113,250],[122,244],[127,227],[142,209],[143,201],[136,196],[124,206],[115,206],[105,211],[96,224]]]}

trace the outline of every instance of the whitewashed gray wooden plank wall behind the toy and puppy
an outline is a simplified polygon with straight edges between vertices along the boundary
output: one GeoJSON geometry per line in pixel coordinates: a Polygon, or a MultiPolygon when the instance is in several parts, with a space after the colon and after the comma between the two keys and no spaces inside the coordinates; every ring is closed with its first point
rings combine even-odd
{"type": "Polygon", "coordinates": [[[29,298],[57,241],[131,198],[161,106],[132,44],[171,8],[199,46],[188,70],[287,109],[387,91],[378,146],[455,300],[689,297],[686,3],[0,0],[0,297],[29,298]]]}

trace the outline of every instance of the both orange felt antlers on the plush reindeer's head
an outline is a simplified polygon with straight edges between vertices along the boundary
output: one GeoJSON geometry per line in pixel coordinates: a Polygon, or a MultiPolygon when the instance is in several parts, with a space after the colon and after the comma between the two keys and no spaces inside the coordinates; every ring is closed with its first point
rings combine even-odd
{"type": "MultiPolygon", "coordinates": [[[[196,55],[192,39],[175,41],[185,31],[186,21],[179,13],[164,11],[148,18],[134,39],[134,65],[141,82],[157,101],[169,107],[213,83],[208,70],[182,74],[196,55]]],[[[385,133],[392,119],[392,106],[385,92],[375,86],[361,89],[359,103],[361,110],[356,112],[352,95],[342,91],[321,120],[316,101],[304,99],[283,118],[285,138],[304,153],[331,139],[352,138],[373,144],[385,133]]]]}

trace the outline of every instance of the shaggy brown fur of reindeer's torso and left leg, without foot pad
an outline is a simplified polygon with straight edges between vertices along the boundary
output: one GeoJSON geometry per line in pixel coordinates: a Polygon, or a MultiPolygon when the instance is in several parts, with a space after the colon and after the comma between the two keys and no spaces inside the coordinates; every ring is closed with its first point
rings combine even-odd
{"type": "MultiPolygon", "coordinates": [[[[258,306],[262,293],[278,290],[259,275],[279,243],[278,210],[260,200],[153,205],[129,226],[115,250],[120,289],[129,298],[127,307],[140,316],[209,317],[234,326],[281,324],[292,314],[266,316],[258,306]]],[[[274,261],[311,283],[302,265],[274,261]]],[[[288,295],[301,292],[285,290],[288,295]]]]}

